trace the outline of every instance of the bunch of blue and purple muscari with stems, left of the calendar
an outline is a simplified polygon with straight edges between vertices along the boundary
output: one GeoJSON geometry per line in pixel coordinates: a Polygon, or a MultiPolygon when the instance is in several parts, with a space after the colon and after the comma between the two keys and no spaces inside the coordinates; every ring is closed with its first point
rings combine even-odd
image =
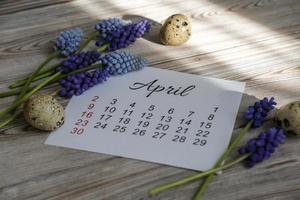
{"type": "Polygon", "coordinates": [[[145,58],[120,49],[133,44],[149,29],[147,20],[133,23],[111,18],[97,23],[95,30],[85,39],[80,28],[61,32],[54,42],[53,53],[33,73],[11,84],[9,91],[0,93],[0,98],[17,96],[8,108],[0,112],[0,128],[19,116],[18,107],[46,86],[58,83],[59,96],[70,98],[103,83],[110,75],[142,69],[147,65],[145,58]],[[83,51],[91,41],[95,41],[94,50],[83,51]],[[62,61],[47,66],[54,58],[62,61]]]}

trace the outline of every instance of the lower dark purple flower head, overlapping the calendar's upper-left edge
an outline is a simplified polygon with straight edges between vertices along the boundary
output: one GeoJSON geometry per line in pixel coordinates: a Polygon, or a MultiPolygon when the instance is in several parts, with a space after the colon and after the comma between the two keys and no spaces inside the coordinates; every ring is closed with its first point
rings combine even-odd
{"type": "Polygon", "coordinates": [[[62,89],[59,91],[61,97],[70,98],[73,95],[81,95],[91,87],[107,80],[109,73],[107,69],[96,69],[90,72],[82,72],[70,75],[66,79],[60,80],[62,89]]]}

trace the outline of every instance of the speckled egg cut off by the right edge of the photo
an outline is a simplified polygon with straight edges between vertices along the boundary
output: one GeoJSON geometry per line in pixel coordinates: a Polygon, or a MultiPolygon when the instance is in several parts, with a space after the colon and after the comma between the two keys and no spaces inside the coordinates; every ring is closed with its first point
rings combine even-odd
{"type": "Polygon", "coordinates": [[[287,133],[300,135],[300,101],[282,106],[274,119],[287,133]]]}

